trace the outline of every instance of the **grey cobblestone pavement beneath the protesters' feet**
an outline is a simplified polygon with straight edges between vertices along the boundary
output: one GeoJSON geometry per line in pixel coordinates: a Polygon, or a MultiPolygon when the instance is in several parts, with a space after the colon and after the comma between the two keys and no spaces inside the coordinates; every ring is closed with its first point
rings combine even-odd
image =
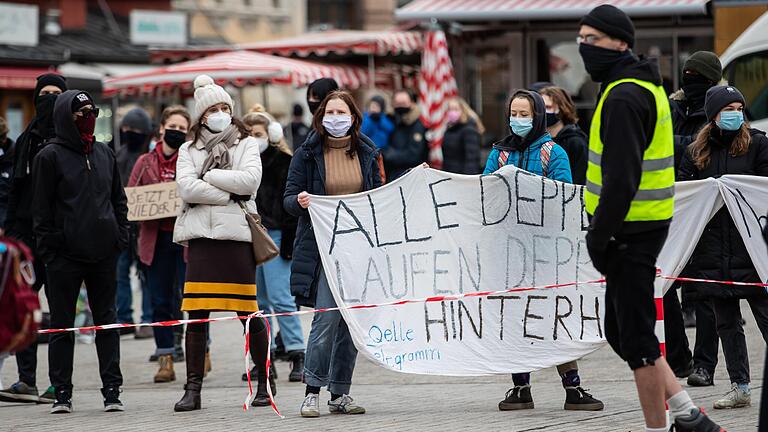
{"type": "MultiPolygon", "coordinates": [[[[751,313],[747,318],[747,341],[752,367],[752,407],[712,410],[713,401],[729,389],[725,361],[720,357],[714,387],[688,388],[694,401],[705,408],[729,431],[756,430],[762,388],[765,344],[751,313]]],[[[304,317],[308,332],[311,317],[304,317]]],[[[332,416],[303,419],[298,407],[304,396],[299,383],[288,382],[288,363],[278,362],[276,401],[285,415],[278,418],[268,407],[243,412],[247,393],[240,381],[243,372],[242,328],[236,322],[212,324],[213,371],[205,380],[203,409],[174,413],[173,404],[182,394],[184,364],[176,364],[178,381],[154,384],[156,365],[147,361],[154,342],[122,339],[122,368],[125,377],[122,400],[124,413],[103,413],[98,389],[98,363],[93,345],[78,344],[75,350],[75,412],[52,416],[47,406],[0,403],[0,431],[643,431],[642,413],[637,403],[630,371],[610,350],[603,347],[580,361],[582,382],[605,402],[602,412],[566,412],[565,394],[554,369],[533,374],[536,409],[525,412],[500,412],[497,403],[511,385],[508,376],[454,378],[415,376],[389,372],[367,360],[358,360],[352,395],[366,407],[363,416],[332,416]]],[[[693,332],[689,330],[691,346],[693,332]]],[[[38,385],[48,383],[47,350],[38,353],[38,385]]],[[[0,372],[4,384],[15,381],[14,358],[0,372]]],[[[321,408],[329,394],[321,395],[321,408]]]]}

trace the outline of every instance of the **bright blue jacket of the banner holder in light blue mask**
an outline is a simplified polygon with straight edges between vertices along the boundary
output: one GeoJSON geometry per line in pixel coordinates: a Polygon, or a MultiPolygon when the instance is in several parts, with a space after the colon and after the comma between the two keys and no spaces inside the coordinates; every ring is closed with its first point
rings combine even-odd
{"type": "MultiPolygon", "coordinates": [[[[488,161],[485,163],[483,174],[490,174],[499,169],[499,152],[504,149],[510,152],[509,158],[507,159],[507,165],[514,165],[536,175],[544,175],[541,166],[541,145],[548,141],[552,141],[549,132],[545,132],[541,138],[531,143],[531,145],[523,151],[518,151],[514,146],[509,144],[511,142],[511,137],[512,135],[493,145],[493,150],[491,150],[491,154],[488,155],[488,161]]],[[[568,153],[557,144],[554,144],[552,152],[550,153],[547,178],[565,183],[573,183],[571,178],[571,165],[568,161],[568,153]]]]}

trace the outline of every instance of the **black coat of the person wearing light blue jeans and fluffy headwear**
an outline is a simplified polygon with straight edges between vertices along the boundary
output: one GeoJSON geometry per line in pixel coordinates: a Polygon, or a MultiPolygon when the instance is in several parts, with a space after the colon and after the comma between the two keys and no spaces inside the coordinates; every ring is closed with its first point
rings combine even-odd
{"type": "Polygon", "coordinates": [[[275,146],[267,147],[261,154],[261,185],[256,194],[256,208],[259,209],[261,222],[267,229],[281,231],[280,256],[284,259],[291,259],[293,256],[297,224],[296,217],[283,207],[290,165],[291,155],[275,146]]]}

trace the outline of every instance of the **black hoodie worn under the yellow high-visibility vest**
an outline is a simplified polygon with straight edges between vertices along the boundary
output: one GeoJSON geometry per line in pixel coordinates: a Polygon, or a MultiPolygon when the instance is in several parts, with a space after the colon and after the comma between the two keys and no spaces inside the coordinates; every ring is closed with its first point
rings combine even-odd
{"type": "MultiPolygon", "coordinates": [[[[661,85],[655,59],[627,57],[611,70],[600,94],[614,81],[635,78],[661,85]]],[[[670,220],[625,222],[632,199],[640,187],[643,153],[651,144],[656,128],[653,94],[633,84],[614,87],[603,102],[600,139],[603,141],[603,188],[600,203],[590,226],[596,245],[605,247],[617,234],[635,234],[668,227],[670,220]]]]}

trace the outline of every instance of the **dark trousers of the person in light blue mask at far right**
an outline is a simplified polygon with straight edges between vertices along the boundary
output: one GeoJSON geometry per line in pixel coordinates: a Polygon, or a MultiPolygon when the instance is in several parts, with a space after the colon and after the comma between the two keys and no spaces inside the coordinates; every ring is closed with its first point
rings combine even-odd
{"type": "MultiPolygon", "coordinates": [[[[768,297],[750,297],[747,299],[757,327],[768,342],[768,297]]],[[[717,319],[717,334],[723,344],[725,365],[728,377],[732,383],[748,384],[749,356],[747,355],[747,339],[744,337],[744,326],[741,324],[740,300],[737,298],[713,299],[715,317],[717,319]]]]}

